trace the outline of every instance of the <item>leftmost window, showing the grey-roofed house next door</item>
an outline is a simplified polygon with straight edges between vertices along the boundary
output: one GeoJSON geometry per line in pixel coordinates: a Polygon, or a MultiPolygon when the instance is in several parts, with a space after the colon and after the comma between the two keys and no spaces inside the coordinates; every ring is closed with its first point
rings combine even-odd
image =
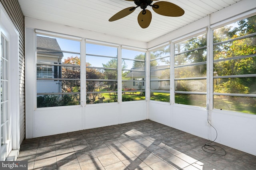
{"type": "Polygon", "coordinates": [[[37,34],[36,49],[37,107],[79,105],[80,41],[37,34]]]}

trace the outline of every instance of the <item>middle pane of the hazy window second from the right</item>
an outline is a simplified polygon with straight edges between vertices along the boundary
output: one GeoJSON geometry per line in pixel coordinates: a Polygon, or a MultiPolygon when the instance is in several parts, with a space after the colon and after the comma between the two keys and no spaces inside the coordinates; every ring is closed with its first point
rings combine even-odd
{"type": "Polygon", "coordinates": [[[206,77],[206,64],[174,68],[175,78],[206,77]]]}

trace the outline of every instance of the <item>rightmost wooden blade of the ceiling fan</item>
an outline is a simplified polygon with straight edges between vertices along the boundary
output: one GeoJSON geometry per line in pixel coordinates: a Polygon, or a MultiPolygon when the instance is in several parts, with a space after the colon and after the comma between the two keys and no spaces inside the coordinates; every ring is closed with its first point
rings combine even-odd
{"type": "Polygon", "coordinates": [[[160,1],[152,5],[152,9],[157,14],[162,16],[170,17],[179,17],[182,16],[185,12],[178,5],[172,4],[171,2],[160,1]],[[158,8],[159,7],[159,8],[158,8]]]}

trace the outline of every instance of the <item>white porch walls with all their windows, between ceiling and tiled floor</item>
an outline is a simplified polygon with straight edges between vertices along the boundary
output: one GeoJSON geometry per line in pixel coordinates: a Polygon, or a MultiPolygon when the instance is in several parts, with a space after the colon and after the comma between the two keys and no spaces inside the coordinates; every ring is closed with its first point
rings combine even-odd
{"type": "Polygon", "coordinates": [[[150,119],[211,141],[215,127],[216,143],[256,155],[248,8],[242,0],[149,42],[25,16],[26,138],[150,119]]]}

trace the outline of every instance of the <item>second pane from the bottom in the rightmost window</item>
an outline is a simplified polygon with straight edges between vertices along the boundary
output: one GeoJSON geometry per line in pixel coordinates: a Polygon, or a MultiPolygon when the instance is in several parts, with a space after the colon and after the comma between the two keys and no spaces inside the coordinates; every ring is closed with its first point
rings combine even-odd
{"type": "Polygon", "coordinates": [[[214,92],[256,94],[256,77],[214,78],[214,92]]]}

